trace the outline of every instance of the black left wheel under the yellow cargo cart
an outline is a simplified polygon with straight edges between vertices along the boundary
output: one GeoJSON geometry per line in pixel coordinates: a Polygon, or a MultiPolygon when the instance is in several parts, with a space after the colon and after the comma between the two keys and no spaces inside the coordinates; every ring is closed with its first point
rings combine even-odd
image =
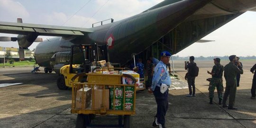
{"type": "Polygon", "coordinates": [[[89,115],[78,114],[76,117],[75,128],[86,128],[91,123],[89,115]]]}

